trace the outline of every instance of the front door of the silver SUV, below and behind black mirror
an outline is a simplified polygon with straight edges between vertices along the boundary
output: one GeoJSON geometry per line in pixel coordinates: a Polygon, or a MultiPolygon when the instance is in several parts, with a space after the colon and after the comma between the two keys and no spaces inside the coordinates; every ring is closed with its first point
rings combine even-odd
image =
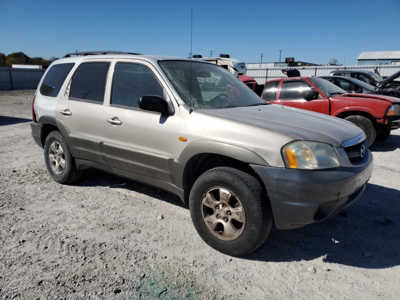
{"type": "Polygon", "coordinates": [[[120,60],[114,66],[110,103],[104,105],[104,152],[116,174],[154,184],[173,182],[172,162],[179,109],[162,116],[139,108],[144,95],[157,95],[171,104],[172,94],[148,62],[120,60]],[[164,85],[165,86],[165,85],[164,85]]]}

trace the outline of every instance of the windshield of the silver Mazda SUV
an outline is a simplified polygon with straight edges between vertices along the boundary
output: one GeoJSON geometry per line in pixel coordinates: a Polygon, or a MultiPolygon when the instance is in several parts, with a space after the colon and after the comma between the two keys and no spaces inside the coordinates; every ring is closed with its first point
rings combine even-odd
{"type": "Polygon", "coordinates": [[[159,64],[184,102],[192,109],[266,104],[236,76],[220,66],[182,60],[165,60],[159,64]]]}

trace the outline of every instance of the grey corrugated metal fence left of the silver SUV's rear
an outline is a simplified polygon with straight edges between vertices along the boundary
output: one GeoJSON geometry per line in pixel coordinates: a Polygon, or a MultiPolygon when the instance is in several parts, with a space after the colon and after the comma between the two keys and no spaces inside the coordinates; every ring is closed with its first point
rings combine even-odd
{"type": "Polygon", "coordinates": [[[0,91],[35,90],[46,69],[0,68],[0,91]]]}

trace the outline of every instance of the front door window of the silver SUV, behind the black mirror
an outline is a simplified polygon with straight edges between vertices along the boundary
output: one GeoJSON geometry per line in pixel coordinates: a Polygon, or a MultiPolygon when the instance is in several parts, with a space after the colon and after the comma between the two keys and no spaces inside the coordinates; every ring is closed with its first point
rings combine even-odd
{"type": "Polygon", "coordinates": [[[163,94],[164,89],[146,66],[125,62],[115,65],[111,104],[137,108],[142,96],[163,94]]]}

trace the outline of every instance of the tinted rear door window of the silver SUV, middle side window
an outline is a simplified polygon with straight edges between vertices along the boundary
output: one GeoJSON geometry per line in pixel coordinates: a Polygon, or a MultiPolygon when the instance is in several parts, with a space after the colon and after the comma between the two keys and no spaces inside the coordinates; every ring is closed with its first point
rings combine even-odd
{"type": "Polygon", "coordinates": [[[70,99],[103,103],[109,62],[84,62],[71,81],[70,99]]]}

